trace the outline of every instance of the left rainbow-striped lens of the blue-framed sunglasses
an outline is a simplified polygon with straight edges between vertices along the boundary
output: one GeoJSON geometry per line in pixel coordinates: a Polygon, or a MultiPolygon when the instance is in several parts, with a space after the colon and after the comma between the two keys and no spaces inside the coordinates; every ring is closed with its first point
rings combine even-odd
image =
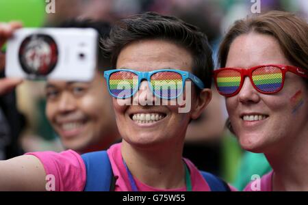
{"type": "Polygon", "coordinates": [[[110,75],[109,89],[116,98],[128,98],[138,90],[138,75],[130,71],[114,72],[110,75]]]}

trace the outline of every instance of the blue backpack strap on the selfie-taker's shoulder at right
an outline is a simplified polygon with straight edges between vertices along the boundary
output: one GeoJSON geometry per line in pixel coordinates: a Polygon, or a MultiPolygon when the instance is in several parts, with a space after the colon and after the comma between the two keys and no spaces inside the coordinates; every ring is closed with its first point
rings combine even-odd
{"type": "Polygon", "coordinates": [[[201,175],[209,184],[211,191],[231,191],[229,185],[224,180],[210,174],[209,172],[200,171],[201,175]]]}

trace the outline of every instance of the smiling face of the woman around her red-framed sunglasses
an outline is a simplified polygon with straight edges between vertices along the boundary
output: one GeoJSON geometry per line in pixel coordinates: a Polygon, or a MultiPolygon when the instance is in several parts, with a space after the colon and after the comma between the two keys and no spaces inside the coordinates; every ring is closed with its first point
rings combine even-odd
{"type": "MultiPolygon", "coordinates": [[[[272,36],[248,33],[232,42],[227,68],[266,64],[291,65],[272,36]]],[[[292,72],[285,74],[284,87],[276,94],[257,92],[246,77],[240,92],[226,102],[235,135],[246,150],[267,152],[279,145],[287,146],[308,126],[307,83],[292,72]],[[294,98],[298,98],[300,104],[294,102],[294,98]]]]}

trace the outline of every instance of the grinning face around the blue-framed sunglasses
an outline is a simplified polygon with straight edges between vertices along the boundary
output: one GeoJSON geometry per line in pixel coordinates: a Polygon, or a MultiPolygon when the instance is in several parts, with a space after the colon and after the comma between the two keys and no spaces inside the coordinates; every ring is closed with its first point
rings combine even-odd
{"type": "MultiPolygon", "coordinates": [[[[116,68],[138,71],[170,68],[192,72],[192,55],[166,40],[140,40],[120,51],[116,68]]],[[[125,141],[142,148],[163,141],[183,141],[190,118],[197,118],[201,113],[194,109],[196,93],[194,89],[191,91],[192,109],[188,113],[179,113],[179,105],[154,105],[160,99],[153,96],[147,81],[142,81],[140,90],[132,99],[113,98],[120,135],[125,141]],[[153,105],[144,105],[144,93],[153,96],[153,105]],[[129,102],[134,102],[134,105],[128,105],[129,102]]]]}

